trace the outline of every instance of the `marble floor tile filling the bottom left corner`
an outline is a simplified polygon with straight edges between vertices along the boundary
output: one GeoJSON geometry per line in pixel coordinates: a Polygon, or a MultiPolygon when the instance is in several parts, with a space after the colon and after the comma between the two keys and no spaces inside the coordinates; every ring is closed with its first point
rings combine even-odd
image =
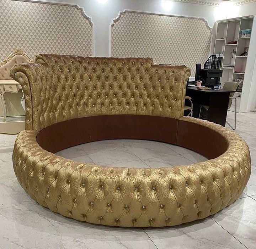
{"type": "Polygon", "coordinates": [[[0,247],[53,248],[62,244],[54,212],[28,200],[0,209],[0,247]]]}

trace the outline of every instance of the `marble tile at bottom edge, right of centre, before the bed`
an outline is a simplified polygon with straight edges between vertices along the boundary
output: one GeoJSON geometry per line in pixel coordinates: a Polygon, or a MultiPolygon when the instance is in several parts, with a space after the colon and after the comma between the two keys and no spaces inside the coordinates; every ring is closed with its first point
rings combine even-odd
{"type": "Polygon", "coordinates": [[[158,249],[246,249],[211,218],[168,228],[145,228],[158,249]]]}

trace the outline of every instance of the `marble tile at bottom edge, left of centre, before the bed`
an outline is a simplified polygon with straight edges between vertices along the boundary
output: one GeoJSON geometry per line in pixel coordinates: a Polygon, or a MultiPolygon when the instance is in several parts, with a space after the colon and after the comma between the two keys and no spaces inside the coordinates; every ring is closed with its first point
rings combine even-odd
{"type": "Polygon", "coordinates": [[[56,215],[65,249],[145,248],[156,249],[142,228],[94,225],[56,215]]]}

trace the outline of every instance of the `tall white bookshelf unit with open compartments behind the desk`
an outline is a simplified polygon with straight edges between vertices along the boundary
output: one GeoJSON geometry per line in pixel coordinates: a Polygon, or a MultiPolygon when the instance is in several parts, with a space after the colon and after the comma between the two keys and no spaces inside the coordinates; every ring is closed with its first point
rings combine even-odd
{"type": "MultiPolygon", "coordinates": [[[[238,96],[238,112],[255,111],[256,108],[256,16],[217,21],[214,54],[223,54],[222,86],[226,81],[243,79],[238,96]],[[243,29],[251,29],[250,37],[242,37],[243,29]],[[236,44],[228,44],[237,41],[236,44]],[[247,55],[241,54],[247,50],[247,55]]],[[[231,106],[231,110],[234,106],[231,106]]]]}

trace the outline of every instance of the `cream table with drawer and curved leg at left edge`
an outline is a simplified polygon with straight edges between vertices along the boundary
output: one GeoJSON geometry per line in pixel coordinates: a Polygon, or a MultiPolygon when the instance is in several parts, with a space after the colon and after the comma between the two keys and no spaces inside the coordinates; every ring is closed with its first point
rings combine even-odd
{"type": "Polygon", "coordinates": [[[0,80],[0,101],[3,109],[3,121],[6,120],[6,104],[4,99],[4,93],[17,93],[21,88],[21,85],[14,80],[0,80]]]}

